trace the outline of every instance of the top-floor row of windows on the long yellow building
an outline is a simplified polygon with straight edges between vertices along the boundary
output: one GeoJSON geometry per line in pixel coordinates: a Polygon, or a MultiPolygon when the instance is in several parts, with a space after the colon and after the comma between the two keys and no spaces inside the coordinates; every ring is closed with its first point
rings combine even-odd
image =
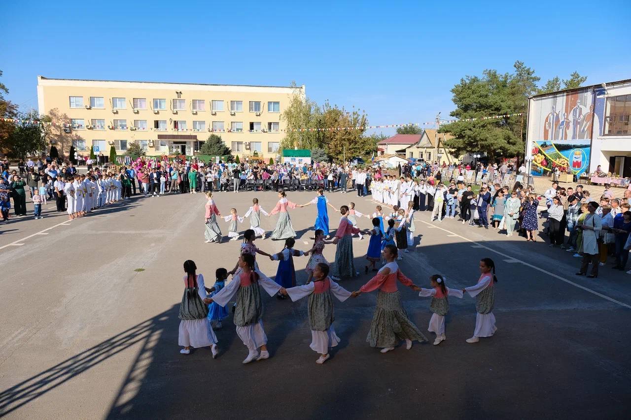
{"type": "MultiPolygon", "coordinates": [[[[69,96],[69,102],[71,108],[86,108],[83,103],[83,96],[69,96]]],[[[171,109],[174,111],[186,111],[186,99],[172,99],[170,101],[171,109]]],[[[230,112],[243,112],[243,101],[225,101],[230,103],[230,112]]],[[[146,98],[132,98],[129,102],[132,109],[146,110],[147,99],[146,98]]],[[[249,112],[262,112],[261,101],[249,101],[249,112]]],[[[268,102],[268,112],[280,112],[280,102],[268,102]]],[[[126,98],[112,98],[112,109],[127,109],[126,98]]],[[[211,100],[209,101],[210,110],[213,112],[222,112],[224,110],[223,100],[211,100]]],[[[102,108],[105,109],[105,98],[103,96],[90,96],[89,108],[102,108]]],[[[161,98],[153,99],[153,110],[166,110],[167,100],[161,98]]],[[[193,99],[191,101],[191,110],[203,112],[206,110],[206,101],[203,99],[193,99]]]]}

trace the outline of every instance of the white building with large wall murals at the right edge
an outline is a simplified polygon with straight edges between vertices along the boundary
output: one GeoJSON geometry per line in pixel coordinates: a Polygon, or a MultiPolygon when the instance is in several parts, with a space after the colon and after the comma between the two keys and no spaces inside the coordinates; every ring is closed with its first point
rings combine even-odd
{"type": "Polygon", "coordinates": [[[526,156],[531,173],[631,177],[631,79],[531,96],[526,156]]]}

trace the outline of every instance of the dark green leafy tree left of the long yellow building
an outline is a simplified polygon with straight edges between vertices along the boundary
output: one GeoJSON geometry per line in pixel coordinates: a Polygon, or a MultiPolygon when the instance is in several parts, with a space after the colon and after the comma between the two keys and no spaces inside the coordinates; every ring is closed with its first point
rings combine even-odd
{"type": "Polygon", "coordinates": [[[18,114],[17,117],[18,122],[14,123],[13,131],[9,132],[7,155],[22,159],[45,151],[49,125],[44,123],[49,122],[49,119],[40,117],[35,111],[18,114]]]}

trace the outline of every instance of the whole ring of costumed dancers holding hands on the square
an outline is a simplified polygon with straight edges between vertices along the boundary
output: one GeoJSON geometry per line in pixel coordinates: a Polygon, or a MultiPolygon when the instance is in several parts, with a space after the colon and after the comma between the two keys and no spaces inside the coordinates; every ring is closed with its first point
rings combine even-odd
{"type": "MultiPolygon", "coordinates": [[[[221,216],[212,193],[207,194],[206,202],[206,242],[221,242],[222,235],[216,216],[221,216]]],[[[445,335],[445,315],[449,311],[449,298],[463,298],[464,293],[476,298],[476,325],[473,336],[466,340],[475,343],[480,337],[491,337],[495,334],[495,316],[493,306],[495,303],[495,263],[489,258],[480,260],[480,277],[473,286],[463,289],[452,289],[447,286],[447,279],[441,274],[434,274],[428,279],[428,288],[421,288],[407,277],[397,263],[401,260],[402,253],[408,251],[408,242],[413,243],[414,232],[413,210],[408,205],[407,210],[393,206],[394,210],[389,216],[382,213],[382,208],[377,206],[372,214],[372,229],[360,230],[357,227],[357,217],[367,216],[359,213],[355,205],[341,206],[339,214],[338,230],[329,231],[327,206],[333,207],[322,189],[318,195],[305,204],[295,204],[289,201],[286,193],[278,193],[278,202],[270,213],[266,213],[259,205],[258,200],[252,200],[252,206],[244,217],[237,214],[236,209],[231,209],[230,215],[225,216],[229,223],[228,237],[230,240],[239,239],[237,223],[243,223],[250,217],[251,228],[243,235],[243,243],[240,247],[239,260],[232,270],[228,271],[220,267],[215,271],[215,284],[211,288],[204,285],[204,277],[197,273],[194,262],[184,262],[184,295],[180,304],[179,345],[184,347],[182,354],[191,353],[191,347],[210,347],[213,358],[219,354],[218,339],[215,329],[220,329],[222,322],[228,317],[227,306],[234,300],[233,322],[237,335],[248,349],[247,357],[243,363],[260,361],[269,358],[268,339],[265,334],[262,314],[263,304],[261,290],[269,296],[276,296],[279,300],[289,297],[292,301],[302,298],[308,300],[309,324],[311,329],[310,348],[319,354],[316,363],[322,364],[330,358],[329,349],[339,344],[340,338],[335,332],[333,323],[334,300],[340,302],[348,298],[358,298],[363,293],[377,291],[377,305],[367,334],[366,341],[371,347],[379,348],[381,353],[394,350],[400,344],[406,349],[411,349],[413,341],[426,342],[427,337],[416,327],[408,317],[399,284],[407,286],[422,298],[431,298],[430,311],[432,317],[428,325],[428,331],[435,334],[433,344],[438,345],[447,339],[445,335]],[[314,245],[307,251],[295,249],[295,231],[288,209],[305,207],[310,204],[317,206],[317,217],[314,223],[314,245]],[[270,237],[274,240],[285,240],[285,246],[280,252],[268,254],[259,249],[254,242],[256,238],[266,237],[266,232],[261,228],[261,213],[266,216],[279,214],[278,222],[270,237]],[[384,230],[384,221],[387,230],[384,230]],[[367,264],[364,267],[365,274],[374,272],[370,279],[357,291],[348,291],[338,282],[340,279],[358,276],[359,272],[353,261],[353,241],[355,235],[370,235],[369,247],[366,255],[367,264]],[[396,242],[395,242],[396,240],[396,242]],[[325,245],[336,245],[335,261],[329,264],[322,251],[325,245]],[[261,272],[257,264],[257,255],[264,255],[271,260],[277,260],[278,270],[274,279],[261,272]],[[298,285],[296,282],[294,259],[308,256],[309,260],[305,271],[309,275],[306,284],[298,285]],[[377,262],[382,266],[377,269],[377,262]],[[232,275],[232,281],[227,282],[232,275]],[[214,329],[213,329],[214,324],[214,329]]],[[[410,203],[411,204],[411,203],[410,203]]],[[[338,209],[335,209],[338,211],[338,209]]]]}

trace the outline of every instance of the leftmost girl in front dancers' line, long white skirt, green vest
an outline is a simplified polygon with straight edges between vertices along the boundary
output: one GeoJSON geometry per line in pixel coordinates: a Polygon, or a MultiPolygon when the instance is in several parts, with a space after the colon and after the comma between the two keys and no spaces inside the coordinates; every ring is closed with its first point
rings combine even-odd
{"type": "Polygon", "coordinates": [[[217,337],[213,331],[213,326],[208,319],[208,308],[204,303],[211,303],[210,298],[206,298],[206,287],[204,286],[204,276],[196,274],[197,266],[191,260],[184,261],[184,284],[186,290],[180,303],[180,329],[178,343],[184,346],[180,350],[182,354],[191,353],[191,347],[210,346],[213,359],[219,353],[217,349],[217,337]]]}

